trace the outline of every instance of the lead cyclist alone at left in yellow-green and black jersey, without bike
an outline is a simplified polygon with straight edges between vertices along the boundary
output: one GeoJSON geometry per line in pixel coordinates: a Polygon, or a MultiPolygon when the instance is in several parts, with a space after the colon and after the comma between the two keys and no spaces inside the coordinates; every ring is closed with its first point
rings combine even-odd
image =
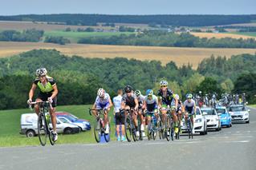
{"type": "MultiPolygon", "coordinates": [[[[35,99],[36,102],[40,101],[50,101],[51,108],[50,108],[50,115],[51,115],[51,122],[53,127],[53,140],[58,140],[58,134],[56,132],[56,115],[55,115],[55,107],[57,105],[57,94],[58,88],[56,85],[55,80],[52,77],[47,75],[47,69],[39,68],[36,70],[36,78],[32,87],[29,92],[29,99],[27,100],[27,104],[31,104],[32,98],[35,94],[35,89],[39,87],[40,92],[38,97],[35,99]]],[[[39,105],[35,105],[35,113],[39,115],[39,105]]]]}

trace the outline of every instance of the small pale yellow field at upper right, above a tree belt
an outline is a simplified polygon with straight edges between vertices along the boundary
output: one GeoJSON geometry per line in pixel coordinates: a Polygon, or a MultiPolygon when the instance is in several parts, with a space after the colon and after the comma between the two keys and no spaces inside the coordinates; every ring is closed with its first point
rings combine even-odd
{"type": "Polygon", "coordinates": [[[199,38],[255,38],[253,36],[238,35],[238,34],[226,34],[226,33],[190,33],[199,38]]]}

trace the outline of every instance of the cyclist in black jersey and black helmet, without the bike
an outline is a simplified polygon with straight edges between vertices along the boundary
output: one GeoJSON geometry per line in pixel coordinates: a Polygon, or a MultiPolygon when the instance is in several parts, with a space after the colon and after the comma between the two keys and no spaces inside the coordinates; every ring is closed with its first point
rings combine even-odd
{"type": "Polygon", "coordinates": [[[138,121],[137,121],[137,110],[139,107],[138,100],[136,95],[132,93],[132,86],[126,85],[124,88],[124,96],[122,98],[122,105],[121,109],[124,110],[125,115],[128,113],[126,112],[127,109],[132,109],[132,119],[136,128],[136,136],[140,136],[138,121]]]}

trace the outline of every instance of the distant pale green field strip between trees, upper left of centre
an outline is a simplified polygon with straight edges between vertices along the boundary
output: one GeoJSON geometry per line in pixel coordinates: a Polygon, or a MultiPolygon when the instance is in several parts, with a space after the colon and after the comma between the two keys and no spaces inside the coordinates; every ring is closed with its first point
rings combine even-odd
{"type": "Polygon", "coordinates": [[[120,35],[120,34],[132,34],[128,32],[66,32],[62,30],[55,30],[55,31],[46,31],[44,36],[54,36],[54,37],[63,37],[68,38],[71,43],[76,43],[79,38],[88,38],[88,37],[111,37],[113,35],[120,35]]]}

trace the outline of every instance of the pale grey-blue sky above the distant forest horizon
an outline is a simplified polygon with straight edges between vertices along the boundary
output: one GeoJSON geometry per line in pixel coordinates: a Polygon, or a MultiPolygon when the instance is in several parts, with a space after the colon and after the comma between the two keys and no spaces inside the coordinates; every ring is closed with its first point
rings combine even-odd
{"type": "Polygon", "coordinates": [[[2,0],[0,15],[256,14],[256,0],[2,0]]]}

